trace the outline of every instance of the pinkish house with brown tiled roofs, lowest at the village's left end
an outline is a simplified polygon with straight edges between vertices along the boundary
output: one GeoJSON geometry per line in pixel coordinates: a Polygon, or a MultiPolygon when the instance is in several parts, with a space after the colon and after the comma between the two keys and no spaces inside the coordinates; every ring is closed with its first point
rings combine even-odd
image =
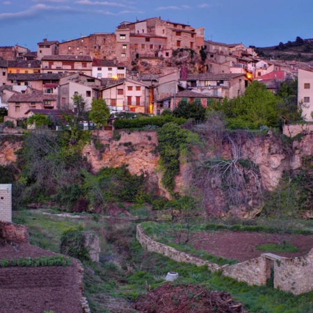
{"type": "Polygon", "coordinates": [[[8,99],[8,116],[4,120],[11,120],[15,125],[26,119],[29,109],[56,109],[57,95],[45,94],[40,90],[27,87],[24,93],[15,93],[8,99]]]}

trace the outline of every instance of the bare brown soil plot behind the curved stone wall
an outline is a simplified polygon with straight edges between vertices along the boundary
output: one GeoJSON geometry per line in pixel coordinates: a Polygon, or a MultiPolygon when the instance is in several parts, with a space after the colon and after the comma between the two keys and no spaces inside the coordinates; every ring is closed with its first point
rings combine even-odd
{"type": "Polygon", "coordinates": [[[189,243],[211,255],[236,259],[240,262],[259,257],[262,253],[272,252],[282,257],[300,257],[306,255],[313,248],[313,236],[286,234],[284,240],[298,248],[298,252],[272,252],[257,250],[257,246],[264,243],[278,243],[272,234],[261,232],[195,232],[189,243]]]}

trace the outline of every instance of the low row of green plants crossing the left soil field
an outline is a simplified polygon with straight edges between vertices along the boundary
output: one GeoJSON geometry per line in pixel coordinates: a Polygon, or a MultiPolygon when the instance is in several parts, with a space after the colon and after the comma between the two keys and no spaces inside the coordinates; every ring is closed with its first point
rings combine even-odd
{"type": "Polygon", "coordinates": [[[1,259],[0,267],[38,267],[38,266],[71,266],[72,261],[69,257],[56,255],[53,257],[19,257],[19,259],[1,259]]]}

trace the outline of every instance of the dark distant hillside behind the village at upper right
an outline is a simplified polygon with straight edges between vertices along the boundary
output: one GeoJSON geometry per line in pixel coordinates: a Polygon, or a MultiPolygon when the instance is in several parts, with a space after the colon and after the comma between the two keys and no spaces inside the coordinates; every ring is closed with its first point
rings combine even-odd
{"type": "Polygon", "coordinates": [[[272,47],[255,47],[255,51],[262,58],[275,58],[286,61],[313,61],[313,40],[297,37],[294,41],[280,42],[272,47]]]}

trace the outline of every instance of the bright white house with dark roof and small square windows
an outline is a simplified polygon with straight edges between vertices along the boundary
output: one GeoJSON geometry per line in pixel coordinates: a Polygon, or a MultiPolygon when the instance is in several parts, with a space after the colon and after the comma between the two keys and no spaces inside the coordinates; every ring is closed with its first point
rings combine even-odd
{"type": "Polygon", "coordinates": [[[93,59],[92,76],[98,79],[113,78],[121,79],[126,77],[125,65],[118,65],[113,60],[93,59]]]}

